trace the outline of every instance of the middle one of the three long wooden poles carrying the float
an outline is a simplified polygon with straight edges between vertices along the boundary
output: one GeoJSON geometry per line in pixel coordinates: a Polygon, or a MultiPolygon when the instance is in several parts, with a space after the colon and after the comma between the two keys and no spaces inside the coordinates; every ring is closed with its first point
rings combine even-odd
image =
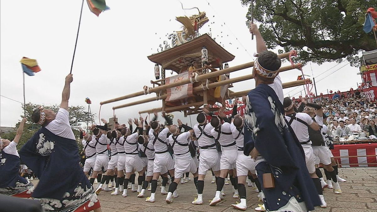
{"type": "MultiPolygon", "coordinates": [[[[297,63],[294,66],[291,66],[291,65],[284,66],[284,67],[281,67],[279,69],[279,72],[284,72],[284,71],[288,71],[288,70],[291,70],[291,69],[299,68],[300,66],[301,66],[301,63],[297,63]]],[[[253,79],[253,78],[254,78],[253,74],[249,74],[249,75],[245,75],[245,76],[241,76],[241,77],[231,78],[229,80],[222,80],[222,81],[219,81],[219,82],[208,84],[208,89],[223,86],[225,84],[236,83],[236,82],[240,82],[240,81],[244,81],[244,80],[250,80],[250,79],[253,79]]],[[[205,89],[207,89],[205,86],[197,86],[197,87],[193,88],[193,93],[203,91],[205,89]]],[[[161,95],[160,97],[156,96],[156,97],[151,97],[151,98],[147,98],[147,99],[143,99],[143,100],[133,101],[133,102],[130,102],[130,103],[114,106],[113,110],[119,109],[119,108],[129,107],[129,106],[136,105],[136,104],[143,104],[143,103],[147,103],[147,102],[150,102],[150,101],[157,101],[157,100],[160,100],[160,99],[166,99],[166,98],[167,98],[167,95],[164,94],[164,95],[161,95]]]]}

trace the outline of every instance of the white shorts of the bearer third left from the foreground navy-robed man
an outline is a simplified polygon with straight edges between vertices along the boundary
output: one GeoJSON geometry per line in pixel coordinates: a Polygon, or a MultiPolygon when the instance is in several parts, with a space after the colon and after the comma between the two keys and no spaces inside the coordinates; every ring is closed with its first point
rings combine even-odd
{"type": "Polygon", "coordinates": [[[220,156],[216,149],[200,149],[199,151],[199,174],[205,175],[209,169],[220,170],[220,156]]]}

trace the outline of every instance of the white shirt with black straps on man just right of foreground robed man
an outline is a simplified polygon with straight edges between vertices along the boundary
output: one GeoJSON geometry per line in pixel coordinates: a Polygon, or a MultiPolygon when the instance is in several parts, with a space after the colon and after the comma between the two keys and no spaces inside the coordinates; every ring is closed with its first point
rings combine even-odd
{"type": "MultiPolygon", "coordinates": [[[[296,113],[296,117],[305,121],[308,125],[313,124],[313,119],[310,117],[309,114],[296,113]]],[[[288,122],[291,120],[291,117],[287,115],[285,116],[285,118],[287,118],[288,122]]],[[[292,121],[291,127],[294,131],[294,134],[296,134],[297,138],[299,139],[299,142],[309,141],[309,131],[308,131],[308,127],[305,124],[295,119],[292,121]]],[[[311,144],[311,141],[309,141],[307,144],[311,144]]]]}

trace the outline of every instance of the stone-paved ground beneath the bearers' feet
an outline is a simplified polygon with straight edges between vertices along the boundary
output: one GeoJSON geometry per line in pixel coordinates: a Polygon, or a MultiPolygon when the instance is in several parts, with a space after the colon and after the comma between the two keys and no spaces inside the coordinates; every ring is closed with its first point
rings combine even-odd
{"type": "MultiPolygon", "coordinates": [[[[191,174],[190,176],[192,177],[191,174]]],[[[325,176],[324,173],[323,176],[325,176]]],[[[333,189],[326,188],[324,195],[328,207],[316,207],[316,212],[377,212],[377,167],[340,168],[339,176],[347,180],[345,183],[340,183],[342,194],[334,194],[333,189]]],[[[211,178],[211,172],[208,172],[204,184],[203,205],[191,204],[196,194],[193,180],[189,181],[189,183],[178,185],[179,197],[175,198],[173,203],[170,204],[165,202],[166,195],[159,194],[161,189],[158,187],[155,203],[147,203],[145,201],[146,198],[137,198],[137,193],[132,193],[130,189],[127,192],[128,197],[125,198],[121,195],[112,196],[110,195],[111,192],[104,191],[98,195],[98,198],[100,199],[103,212],[238,211],[230,206],[230,204],[239,201],[232,198],[233,187],[231,185],[224,185],[226,196],[221,203],[213,207],[209,206],[209,200],[214,197],[216,190],[216,184],[210,183],[211,178]]],[[[257,194],[248,188],[250,187],[246,188],[247,211],[255,211],[254,207],[257,207],[261,203],[258,202],[257,194]]],[[[150,191],[146,192],[146,195],[149,196],[150,191]]]]}

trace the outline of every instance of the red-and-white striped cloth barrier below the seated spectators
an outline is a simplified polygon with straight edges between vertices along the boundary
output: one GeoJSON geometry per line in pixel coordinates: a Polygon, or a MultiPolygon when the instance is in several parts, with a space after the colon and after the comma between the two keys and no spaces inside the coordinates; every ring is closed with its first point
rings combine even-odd
{"type": "Polygon", "coordinates": [[[377,143],[334,145],[331,152],[340,167],[377,166],[377,143]]]}

